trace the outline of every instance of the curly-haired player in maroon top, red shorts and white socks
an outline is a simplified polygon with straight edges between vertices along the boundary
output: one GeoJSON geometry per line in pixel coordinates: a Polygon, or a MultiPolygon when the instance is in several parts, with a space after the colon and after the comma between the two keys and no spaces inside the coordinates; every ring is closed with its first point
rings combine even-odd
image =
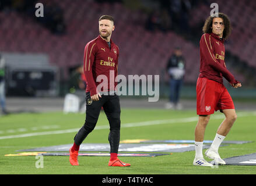
{"type": "Polygon", "coordinates": [[[225,120],[220,124],[215,139],[205,155],[214,159],[217,164],[226,164],[220,158],[218,149],[237,118],[232,98],[223,85],[223,78],[234,88],[241,83],[226,68],[224,41],[231,30],[229,18],[219,13],[218,17],[209,16],[206,19],[200,40],[200,73],[197,80],[197,127],[195,127],[195,159],[196,166],[212,166],[206,162],[202,154],[205,128],[210,116],[217,110],[224,113],[225,120]]]}

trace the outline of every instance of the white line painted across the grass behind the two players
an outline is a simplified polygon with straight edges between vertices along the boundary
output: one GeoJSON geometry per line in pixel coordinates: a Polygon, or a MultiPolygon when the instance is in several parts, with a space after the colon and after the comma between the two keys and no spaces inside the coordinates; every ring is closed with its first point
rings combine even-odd
{"type": "MultiPolygon", "coordinates": [[[[239,117],[245,116],[256,116],[255,112],[240,112],[237,113],[239,117]]],[[[212,120],[224,119],[224,115],[214,115],[211,117],[212,120]]],[[[178,118],[178,119],[169,119],[169,120],[152,120],[152,121],[142,121],[142,122],[135,122],[135,123],[124,123],[121,124],[121,128],[128,128],[128,127],[141,127],[141,126],[152,126],[158,124],[167,124],[167,123],[190,123],[198,121],[198,116],[194,117],[186,117],[186,118],[178,118]]],[[[65,134],[65,133],[76,133],[80,128],[72,128],[67,130],[56,130],[56,131],[45,131],[40,133],[27,133],[27,134],[19,134],[19,135],[6,135],[0,137],[0,140],[10,139],[10,138],[24,138],[24,137],[31,137],[36,135],[51,135],[51,134],[65,134]]],[[[101,129],[109,129],[109,125],[104,126],[96,126],[94,130],[101,130],[101,129]]]]}

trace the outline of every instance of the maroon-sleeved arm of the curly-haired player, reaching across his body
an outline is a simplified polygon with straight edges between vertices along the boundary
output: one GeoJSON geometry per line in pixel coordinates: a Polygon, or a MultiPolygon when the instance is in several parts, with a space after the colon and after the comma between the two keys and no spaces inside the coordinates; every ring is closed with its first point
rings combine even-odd
{"type": "Polygon", "coordinates": [[[213,53],[211,43],[209,42],[208,35],[206,34],[202,35],[202,38],[200,41],[200,48],[204,55],[204,58],[207,60],[208,65],[210,65],[216,71],[219,71],[220,73],[222,73],[222,75],[226,78],[227,81],[229,81],[230,84],[232,84],[232,86],[234,84],[240,83],[234,78],[233,74],[230,73],[229,70],[221,66],[220,63],[215,59],[215,55],[213,53]]]}

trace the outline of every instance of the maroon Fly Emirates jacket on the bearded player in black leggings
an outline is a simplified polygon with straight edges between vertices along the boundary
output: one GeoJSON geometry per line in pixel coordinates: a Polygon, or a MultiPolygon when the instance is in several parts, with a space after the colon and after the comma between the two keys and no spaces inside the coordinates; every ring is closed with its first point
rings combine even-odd
{"type": "Polygon", "coordinates": [[[104,91],[97,90],[97,86],[103,83],[103,80],[96,82],[97,77],[100,75],[105,75],[107,77],[108,92],[114,91],[114,88],[117,85],[113,78],[117,76],[119,48],[112,40],[110,40],[110,44],[111,48],[108,47],[107,42],[99,35],[99,37],[88,42],[85,46],[83,71],[86,76],[86,92],[90,92],[90,95],[95,95],[98,92],[104,91]],[[113,71],[113,76],[110,76],[110,70],[113,71]]]}

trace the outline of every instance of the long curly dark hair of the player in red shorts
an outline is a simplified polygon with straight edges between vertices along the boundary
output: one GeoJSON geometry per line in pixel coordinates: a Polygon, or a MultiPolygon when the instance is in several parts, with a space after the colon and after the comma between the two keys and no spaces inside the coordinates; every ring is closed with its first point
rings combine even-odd
{"type": "MultiPolygon", "coordinates": [[[[230,24],[230,20],[229,20],[229,17],[227,17],[227,15],[225,15],[224,13],[219,13],[219,16],[220,18],[223,19],[223,22],[224,22],[224,30],[223,30],[223,39],[226,40],[230,33],[231,33],[231,30],[232,30],[232,27],[231,27],[231,24],[230,24]]],[[[205,20],[205,24],[204,24],[204,27],[202,28],[202,31],[204,33],[212,33],[212,20],[214,19],[215,17],[212,17],[212,16],[209,16],[206,20],[205,20]]]]}

